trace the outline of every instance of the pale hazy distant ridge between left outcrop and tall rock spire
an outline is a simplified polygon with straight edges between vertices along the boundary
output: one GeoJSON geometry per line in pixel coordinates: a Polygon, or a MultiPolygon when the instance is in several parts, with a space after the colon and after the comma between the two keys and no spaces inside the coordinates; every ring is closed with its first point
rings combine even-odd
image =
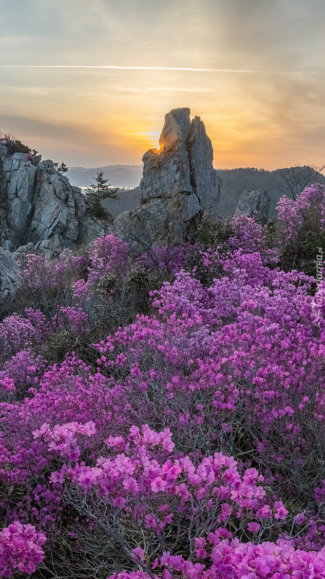
{"type": "Polygon", "coordinates": [[[113,187],[137,187],[142,177],[142,165],[106,165],[105,167],[68,167],[70,183],[77,187],[89,187],[94,183],[93,177],[103,171],[104,179],[109,179],[113,187]]]}

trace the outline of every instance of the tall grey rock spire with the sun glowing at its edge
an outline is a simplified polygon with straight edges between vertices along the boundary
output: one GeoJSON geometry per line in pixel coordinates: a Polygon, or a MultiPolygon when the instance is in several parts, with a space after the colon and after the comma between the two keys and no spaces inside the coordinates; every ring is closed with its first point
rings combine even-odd
{"type": "Polygon", "coordinates": [[[191,122],[189,108],[167,113],[159,145],[143,156],[140,206],[114,221],[117,234],[138,252],[152,243],[179,241],[204,212],[213,214],[219,201],[221,180],[199,116],[191,122]]]}

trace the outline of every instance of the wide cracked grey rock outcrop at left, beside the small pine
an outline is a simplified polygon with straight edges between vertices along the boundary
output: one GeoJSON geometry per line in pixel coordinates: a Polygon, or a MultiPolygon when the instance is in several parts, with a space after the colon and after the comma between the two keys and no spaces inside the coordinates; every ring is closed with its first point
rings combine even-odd
{"type": "Polygon", "coordinates": [[[33,243],[51,256],[103,235],[100,222],[86,215],[81,190],[51,160],[29,157],[0,144],[0,247],[33,243]]]}

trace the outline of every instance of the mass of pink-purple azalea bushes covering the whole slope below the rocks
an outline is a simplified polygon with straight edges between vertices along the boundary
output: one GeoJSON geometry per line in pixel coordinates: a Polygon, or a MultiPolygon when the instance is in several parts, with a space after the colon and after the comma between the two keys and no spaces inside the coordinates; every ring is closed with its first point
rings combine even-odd
{"type": "Polygon", "coordinates": [[[266,228],[219,229],[21,263],[0,322],[0,577],[325,577],[325,301],[266,228]]]}

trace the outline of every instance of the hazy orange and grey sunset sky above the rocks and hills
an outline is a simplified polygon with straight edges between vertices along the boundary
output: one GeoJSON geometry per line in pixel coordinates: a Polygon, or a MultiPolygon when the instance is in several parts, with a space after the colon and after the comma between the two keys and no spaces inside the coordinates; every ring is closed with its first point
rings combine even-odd
{"type": "Polygon", "coordinates": [[[0,130],[68,166],[141,164],[189,107],[216,168],[320,166],[324,32],[324,0],[0,0],[0,130]]]}

